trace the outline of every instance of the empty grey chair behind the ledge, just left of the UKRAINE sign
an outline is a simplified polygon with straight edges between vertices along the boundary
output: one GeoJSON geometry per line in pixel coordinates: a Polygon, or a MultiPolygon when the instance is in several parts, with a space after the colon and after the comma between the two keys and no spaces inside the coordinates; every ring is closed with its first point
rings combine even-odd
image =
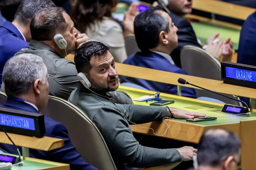
{"type": "MultiPolygon", "coordinates": [[[[184,69],[190,76],[221,81],[220,62],[201,48],[192,45],[184,46],[181,50],[181,66],[182,69],[184,69]]],[[[240,102],[228,99],[226,97],[205,90],[195,89],[195,91],[197,97],[205,96],[218,99],[227,104],[241,105],[240,102]]],[[[232,95],[227,96],[235,98],[232,95]]]]}

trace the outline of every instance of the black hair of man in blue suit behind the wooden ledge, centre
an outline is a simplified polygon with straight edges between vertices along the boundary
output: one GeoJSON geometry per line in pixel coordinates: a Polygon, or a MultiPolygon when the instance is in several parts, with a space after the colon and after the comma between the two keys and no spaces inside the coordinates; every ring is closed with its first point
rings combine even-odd
{"type": "Polygon", "coordinates": [[[134,20],[135,38],[142,51],[157,47],[160,32],[170,31],[169,21],[157,11],[163,10],[160,7],[152,7],[139,13],[134,20]]]}

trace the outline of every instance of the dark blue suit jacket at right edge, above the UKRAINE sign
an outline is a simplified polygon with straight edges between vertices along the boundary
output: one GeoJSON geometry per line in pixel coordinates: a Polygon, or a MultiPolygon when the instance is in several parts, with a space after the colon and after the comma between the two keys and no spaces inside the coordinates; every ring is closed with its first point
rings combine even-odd
{"type": "Polygon", "coordinates": [[[244,22],[238,45],[237,63],[256,66],[256,12],[244,22]]]}

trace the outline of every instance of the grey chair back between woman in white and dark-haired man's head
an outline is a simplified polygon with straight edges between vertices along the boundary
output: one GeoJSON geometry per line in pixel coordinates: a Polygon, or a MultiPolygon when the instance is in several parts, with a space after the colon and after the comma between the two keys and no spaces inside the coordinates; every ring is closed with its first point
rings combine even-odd
{"type": "Polygon", "coordinates": [[[134,34],[127,35],[124,38],[124,42],[125,42],[126,54],[127,54],[128,57],[130,55],[140,51],[140,49],[137,45],[134,34]]]}

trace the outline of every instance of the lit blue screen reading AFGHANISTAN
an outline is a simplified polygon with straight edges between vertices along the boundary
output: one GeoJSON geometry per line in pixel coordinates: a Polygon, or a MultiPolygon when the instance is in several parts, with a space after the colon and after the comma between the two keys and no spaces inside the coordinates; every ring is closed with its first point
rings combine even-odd
{"type": "Polygon", "coordinates": [[[0,124],[15,128],[35,130],[35,122],[32,118],[13,116],[0,113],[0,124]]]}

